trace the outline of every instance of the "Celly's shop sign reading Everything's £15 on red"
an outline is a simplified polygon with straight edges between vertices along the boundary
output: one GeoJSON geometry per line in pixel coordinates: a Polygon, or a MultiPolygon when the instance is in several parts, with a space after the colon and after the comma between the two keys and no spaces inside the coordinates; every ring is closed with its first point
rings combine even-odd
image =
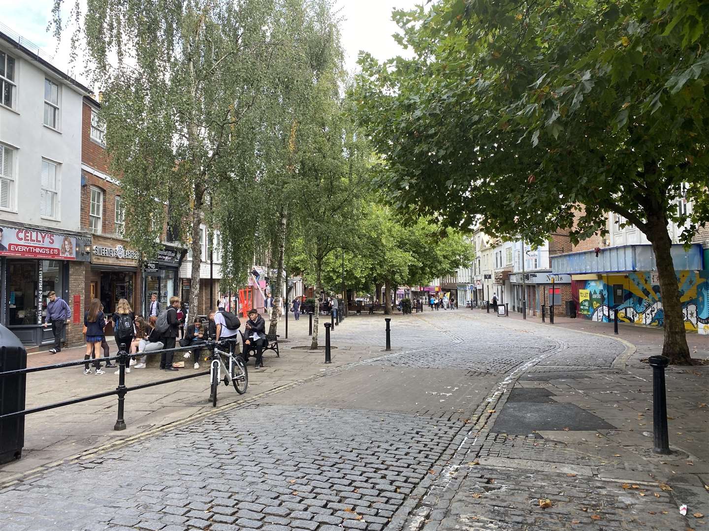
{"type": "Polygon", "coordinates": [[[0,227],[0,255],[76,260],[77,239],[52,232],[0,227]]]}

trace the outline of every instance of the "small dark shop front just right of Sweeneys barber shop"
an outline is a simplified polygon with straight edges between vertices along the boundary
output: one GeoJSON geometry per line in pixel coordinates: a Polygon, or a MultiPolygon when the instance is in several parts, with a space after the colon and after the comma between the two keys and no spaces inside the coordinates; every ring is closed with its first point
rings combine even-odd
{"type": "Polygon", "coordinates": [[[170,297],[180,297],[184,302],[189,302],[189,283],[179,285],[179,266],[186,251],[179,247],[164,246],[157,252],[155,260],[147,261],[143,269],[143,301],[141,307],[143,314],[147,315],[147,306],[150,297],[157,295],[157,302],[161,308],[167,308],[170,297]],[[182,288],[182,289],[181,289],[182,288]],[[186,291],[184,298],[182,291],[186,291]]]}

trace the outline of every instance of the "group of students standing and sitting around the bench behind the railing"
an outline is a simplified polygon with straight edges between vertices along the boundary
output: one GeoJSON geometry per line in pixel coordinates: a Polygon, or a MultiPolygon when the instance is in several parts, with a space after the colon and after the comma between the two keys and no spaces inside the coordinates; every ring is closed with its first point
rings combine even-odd
{"type": "MultiPolygon", "coordinates": [[[[175,348],[177,336],[182,333],[180,346],[199,347],[208,339],[222,341],[225,339],[236,339],[239,336],[240,322],[233,314],[224,312],[223,307],[218,308],[218,312],[209,314],[208,325],[203,326],[200,319],[194,319],[184,331],[184,314],[179,297],[170,297],[169,307],[158,315],[159,305],[155,295],[150,302],[147,319],[143,316],[135,315],[130,309],[130,304],[126,299],[120,299],[116,305],[116,312],[110,316],[104,314],[104,305],[99,299],[93,299],[89,309],[84,314],[84,335],[86,336],[86,354],[84,355],[84,375],[91,374],[89,360],[93,357],[94,374],[104,375],[101,370],[100,358],[97,357],[102,349],[104,358],[109,357],[110,349],[106,343],[105,329],[109,322],[113,323],[113,334],[116,338],[116,346],[121,350],[121,345],[128,349],[130,362],[125,367],[125,372],[130,372],[130,368],[144,369],[147,355],[145,353],[154,350],[168,350],[175,348]],[[231,319],[228,319],[228,318],[231,319]],[[161,321],[160,325],[158,321],[161,321]],[[234,321],[235,320],[235,321],[234,321]],[[229,322],[227,322],[229,321],[229,322]],[[142,355],[141,355],[142,354],[142,355]],[[138,358],[136,360],[136,358],[138,358]]],[[[263,367],[263,349],[267,345],[266,322],[259,316],[255,309],[248,313],[249,319],[245,323],[244,353],[245,362],[248,360],[251,350],[255,351],[256,368],[263,367]]],[[[233,348],[233,343],[232,343],[233,348]]],[[[194,348],[184,353],[184,358],[192,356],[194,358],[194,368],[199,369],[199,353],[201,348],[194,348]]],[[[173,353],[164,352],[160,356],[160,370],[177,371],[177,367],[172,365],[173,353]]],[[[106,367],[116,367],[110,360],[106,361],[106,367]]],[[[118,370],[116,371],[118,374],[118,370]]]]}

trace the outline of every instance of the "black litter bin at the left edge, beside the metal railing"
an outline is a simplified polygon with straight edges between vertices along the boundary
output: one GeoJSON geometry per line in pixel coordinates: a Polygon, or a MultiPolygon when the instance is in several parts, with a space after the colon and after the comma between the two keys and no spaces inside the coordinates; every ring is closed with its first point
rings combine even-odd
{"type": "MultiPolygon", "coordinates": [[[[25,369],[27,351],[11,331],[0,324],[0,372],[25,369]]],[[[25,409],[26,375],[0,377],[0,415],[25,409]]],[[[0,464],[19,459],[25,445],[25,417],[0,421],[0,464]]]]}

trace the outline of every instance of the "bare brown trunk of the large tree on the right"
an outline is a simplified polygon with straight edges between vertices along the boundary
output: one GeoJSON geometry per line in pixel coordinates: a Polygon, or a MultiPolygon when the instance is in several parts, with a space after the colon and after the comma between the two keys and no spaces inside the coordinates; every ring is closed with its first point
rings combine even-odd
{"type": "Polygon", "coordinates": [[[645,234],[650,243],[652,243],[660,280],[660,296],[662,297],[662,311],[664,312],[662,355],[669,358],[671,364],[691,365],[677,274],[672,262],[672,241],[667,232],[666,217],[657,214],[648,215],[645,234]]]}

